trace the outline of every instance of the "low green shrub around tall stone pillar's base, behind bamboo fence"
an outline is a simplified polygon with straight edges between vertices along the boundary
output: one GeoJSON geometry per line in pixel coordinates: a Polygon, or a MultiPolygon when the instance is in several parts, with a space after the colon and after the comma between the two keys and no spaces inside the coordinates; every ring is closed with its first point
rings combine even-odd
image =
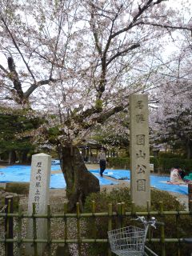
{"type": "MultiPolygon", "coordinates": [[[[117,203],[118,202],[125,202],[125,210],[131,210],[131,201],[130,201],[130,190],[129,188],[123,188],[120,190],[112,190],[109,194],[106,192],[97,193],[97,194],[90,194],[86,198],[85,204],[85,211],[90,212],[92,208],[92,201],[95,202],[96,212],[108,212],[108,203],[113,203],[113,211],[117,210],[117,203]]],[[[163,210],[184,210],[184,206],[180,205],[179,202],[172,196],[171,194],[167,193],[166,191],[160,190],[151,190],[151,210],[159,210],[159,202],[163,202],[163,210]]],[[[145,211],[142,207],[136,207],[135,210],[137,211],[145,211]]],[[[130,218],[133,217],[126,217],[123,218],[123,226],[130,226],[133,225],[133,220],[130,218]]],[[[175,228],[175,217],[168,216],[168,217],[157,217],[158,221],[162,221],[166,223],[166,238],[176,238],[177,237],[177,230],[175,228]]],[[[181,237],[183,236],[190,236],[191,227],[189,223],[191,222],[190,217],[180,218],[179,220],[181,225],[178,226],[178,232],[181,237]]],[[[118,218],[112,218],[112,228],[116,229],[118,218]]],[[[138,222],[134,222],[134,225],[139,226],[138,222]]],[[[97,238],[107,238],[107,226],[108,226],[108,218],[107,217],[99,217],[94,220],[90,220],[90,218],[86,218],[86,236],[87,238],[94,238],[94,227],[96,227],[96,237],[97,238]],[[96,223],[95,223],[96,222],[96,223]]],[[[160,229],[153,230],[153,237],[159,238],[160,236],[160,229]]],[[[160,254],[160,245],[158,243],[154,243],[154,249],[160,254]]],[[[104,256],[107,255],[108,245],[107,244],[91,244],[88,246],[88,254],[91,256],[104,256]]],[[[183,250],[184,252],[184,250],[183,250]]],[[[172,256],[176,255],[176,249],[173,244],[168,244],[166,246],[166,255],[172,256]]],[[[183,254],[185,255],[185,254],[183,254]]]]}

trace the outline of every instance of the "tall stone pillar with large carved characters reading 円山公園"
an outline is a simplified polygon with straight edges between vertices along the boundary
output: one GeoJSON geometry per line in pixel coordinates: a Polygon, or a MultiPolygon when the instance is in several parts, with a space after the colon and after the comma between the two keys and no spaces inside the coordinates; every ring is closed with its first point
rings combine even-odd
{"type": "Polygon", "coordinates": [[[149,111],[146,94],[130,95],[130,194],[137,206],[150,202],[149,111]]]}

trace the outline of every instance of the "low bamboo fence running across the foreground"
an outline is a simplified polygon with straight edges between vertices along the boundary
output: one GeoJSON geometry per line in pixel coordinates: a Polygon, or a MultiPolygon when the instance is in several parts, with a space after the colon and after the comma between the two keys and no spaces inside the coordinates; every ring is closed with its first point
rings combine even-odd
{"type": "MultiPolygon", "coordinates": [[[[175,229],[178,230],[178,219],[181,217],[191,216],[190,211],[165,211],[163,210],[162,202],[159,202],[158,210],[151,211],[150,206],[148,205],[147,210],[145,212],[136,212],[134,202],[131,204],[130,212],[126,212],[125,204],[118,203],[117,210],[113,211],[112,204],[108,205],[108,211],[106,212],[96,212],[95,211],[95,202],[92,202],[92,210],[90,213],[81,213],[80,212],[80,205],[77,203],[77,210],[75,213],[67,213],[67,204],[63,205],[63,212],[62,213],[51,213],[50,205],[47,206],[47,213],[46,214],[36,214],[35,213],[35,204],[33,205],[33,214],[29,215],[22,212],[21,208],[18,207],[18,211],[13,213],[13,209],[11,206],[12,202],[11,199],[7,201],[6,211],[0,211],[0,225],[4,232],[0,233],[0,245],[3,246],[4,255],[5,256],[12,256],[14,254],[14,246],[17,246],[17,254],[19,256],[23,255],[23,246],[26,243],[33,244],[34,255],[38,255],[38,244],[44,243],[48,246],[49,250],[47,250],[47,255],[52,255],[51,246],[52,245],[69,245],[75,244],[77,245],[76,254],[78,256],[86,255],[85,252],[82,252],[82,247],[84,244],[97,244],[103,245],[108,244],[107,234],[105,238],[99,238],[97,236],[96,228],[98,223],[98,218],[105,218],[106,221],[106,231],[114,229],[114,226],[122,227],[125,225],[127,219],[135,218],[135,216],[146,216],[146,218],[150,218],[151,216],[156,217],[157,219],[163,220],[166,216],[172,216],[175,218],[175,229]],[[33,236],[32,238],[26,238],[26,235],[23,234],[22,225],[24,219],[32,219],[33,220],[33,236]],[[46,218],[46,225],[47,225],[47,235],[46,238],[40,239],[37,237],[37,220],[46,218]],[[69,236],[69,220],[75,219],[75,237],[70,238],[69,236]],[[54,219],[61,219],[63,225],[61,224],[60,229],[63,230],[62,237],[60,238],[52,238],[51,236],[51,222],[54,219]],[[92,226],[92,234],[88,234],[90,238],[86,238],[86,234],[82,235],[82,220],[91,220],[92,226]],[[17,222],[17,235],[14,234],[14,221],[17,222]]],[[[168,238],[165,234],[165,226],[159,226],[158,234],[154,238],[151,236],[151,232],[149,232],[147,237],[147,242],[150,242],[150,245],[158,244],[160,246],[160,251],[158,252],[160,255],[166,255],[166,244],[170,243],[177,243],[178,245],[178,255],[182,255],[181,252],[181,245],[183,242],[182,237],[179,236],[179,232],[177,232],[176,238],[168,238]]],[[[85,249],[84,249],[85,250],[85,249]]],[[[104,253],[105,254],[105,253],[104,253]]],[[[103,254],[103,255],[104,255],[103,254]]],[[[3,254],[2,254],[3,255],[3,254]]],[[[105,255],[110,256],[110,246],[108,246],[108,250],[105,255]]]]}

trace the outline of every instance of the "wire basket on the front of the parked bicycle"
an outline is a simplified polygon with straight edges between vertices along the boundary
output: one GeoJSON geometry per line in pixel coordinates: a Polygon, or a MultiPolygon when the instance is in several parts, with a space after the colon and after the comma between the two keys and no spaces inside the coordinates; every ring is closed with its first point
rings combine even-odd
{"type": "Polygon", "coordinates": [[[108,231],[110,249],[118,256],[142,256],[144,254],[147,229],[126,226],[108,231]]]}

